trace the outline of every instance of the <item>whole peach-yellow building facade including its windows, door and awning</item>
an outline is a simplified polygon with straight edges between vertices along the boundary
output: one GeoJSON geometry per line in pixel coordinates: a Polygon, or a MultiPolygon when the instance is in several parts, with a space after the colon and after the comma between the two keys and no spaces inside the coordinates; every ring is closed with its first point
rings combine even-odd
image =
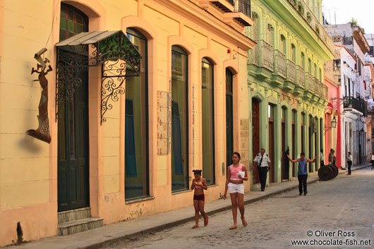
{"type": "Polygon", "coordinates": [[[203,169],[206,199],[216,200],[228,147],[245,152],[248,166],[247,57],[255,45],[243,35],[253,23],[249,5],[0,4],[0,246],[72,233],[59,226],[81,215],[96,227],[192,205],[193,169],[203,169]],[[116,44],[140,54],[119,56],[116,44]],[[38,62],[33,57],[42,48],[38,62]],[[75,71],[74,63],[85,66],[75,71]],[[47,72],[47,88],[32,68],[47,72]],[[49,143],[47,135],[42,141],[25,134],[38,121],[42,134],[49,129],[49,143]]]}

